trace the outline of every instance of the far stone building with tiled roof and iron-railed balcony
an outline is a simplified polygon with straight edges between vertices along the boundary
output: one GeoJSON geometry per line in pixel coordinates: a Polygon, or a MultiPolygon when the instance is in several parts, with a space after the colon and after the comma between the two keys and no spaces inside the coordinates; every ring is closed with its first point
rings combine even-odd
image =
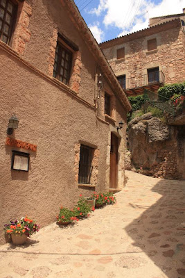
{"type": "Polygon", "coordinates": [[[185,10],[150,19],[149,28],[100,44],[127,95],[185,80],[185,10]]]}

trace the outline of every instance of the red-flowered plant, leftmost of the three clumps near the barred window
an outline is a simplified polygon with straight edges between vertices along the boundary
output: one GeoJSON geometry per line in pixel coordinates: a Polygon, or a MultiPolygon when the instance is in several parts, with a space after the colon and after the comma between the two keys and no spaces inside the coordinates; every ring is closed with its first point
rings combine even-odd
{"type": "Polygon", "coordinates": [[[73,208],[70,210],[69,208],[64,208],[63,206],[61,206],[60,213],[56,218],[58,220],[58,224],[62,225],[67,225],[71,224],[73,221],[78,221],[73,208]]]}

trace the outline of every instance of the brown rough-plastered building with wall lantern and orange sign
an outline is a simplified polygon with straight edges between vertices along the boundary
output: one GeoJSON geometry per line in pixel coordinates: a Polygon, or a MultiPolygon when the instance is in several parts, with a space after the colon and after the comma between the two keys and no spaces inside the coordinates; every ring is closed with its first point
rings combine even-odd
{"type": "Polygon", "coordinates": [[[71,0],[0,0],[0,65],[2,243],[11,219],[123,188],[131,106],[71,0]]]}

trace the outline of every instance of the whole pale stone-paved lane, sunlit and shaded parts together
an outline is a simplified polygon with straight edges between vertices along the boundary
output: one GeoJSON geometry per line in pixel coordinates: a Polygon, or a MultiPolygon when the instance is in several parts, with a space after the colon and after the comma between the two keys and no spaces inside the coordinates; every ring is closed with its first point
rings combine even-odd
{"type": "Polygon", "coordinates": [[[185,277],[184,181],[126,171],[117,204],[0,247],[0,278],[185,277]]]}

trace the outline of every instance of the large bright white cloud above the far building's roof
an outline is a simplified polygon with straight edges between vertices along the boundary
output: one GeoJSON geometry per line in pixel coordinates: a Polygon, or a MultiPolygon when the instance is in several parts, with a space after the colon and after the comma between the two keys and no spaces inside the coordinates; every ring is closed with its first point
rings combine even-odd
{"type": "Polygon", "coordinates": [[[98,8],[91,13],[103,14],[107,28],[116,26],[121,29],[119,35],[125,35],[147,28],[150,17],[182,13],[182,8],[185,8],[185,0],[162,0],[158,5],[154,0],[100,0],[98,8]]]}

